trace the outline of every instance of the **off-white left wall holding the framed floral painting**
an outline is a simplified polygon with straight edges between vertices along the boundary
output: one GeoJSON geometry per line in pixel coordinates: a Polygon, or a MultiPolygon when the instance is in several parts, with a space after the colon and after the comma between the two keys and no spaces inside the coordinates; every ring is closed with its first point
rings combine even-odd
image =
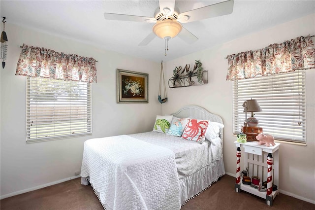
{"type": "Polygon", "coordinates": [[[5,30],[9,41],[6,66],[0,70],[1,198],[73,177],[81,169],[83,143],[87,139],[153,129],[156,115],[162,112],[157,100],[159,63],[9,23],[5,30]],[[97,83],[92,84],[92,136],[26,143],[26,77],[15,75],[23,43],[98,60],[97,83]],[[116,103],[116,69],[149,73],[149,104],[116,103]]]}

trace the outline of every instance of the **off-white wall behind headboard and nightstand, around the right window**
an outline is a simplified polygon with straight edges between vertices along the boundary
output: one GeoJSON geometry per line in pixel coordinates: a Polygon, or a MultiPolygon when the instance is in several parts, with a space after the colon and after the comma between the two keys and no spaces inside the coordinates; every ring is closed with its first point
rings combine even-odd
{"type": "MultiPolygon", "coordinates": [[[[253,33],[211,49],[193,53],[165,64],[166,78],[175,67],[200,60],[208,70],[208,84],[168,89],[163,114],[183,105],[200,105],[220,115],[224,122],[223,155],[227,174],[236,173],[236,137],[232,135],[232,82],[226,81],[227,55],[260,49],[301,35],[315,34],[315,16],[309,15],[276,27],[253,33]]],[[[306,70],[307,146],[283,143],[280,146],[280,192],[315,203],[315,70],[306,70]]]]}

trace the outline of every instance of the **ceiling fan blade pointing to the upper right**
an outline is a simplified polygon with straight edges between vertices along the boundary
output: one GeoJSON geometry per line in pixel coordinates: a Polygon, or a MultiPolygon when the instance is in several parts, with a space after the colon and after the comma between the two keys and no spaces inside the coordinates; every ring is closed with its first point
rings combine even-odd
{"type": "Polygon", "coordinates": [[[233,12],[233,4],[234,4],[233,0],[227,0],[220,3],[183,12],[178,15],[178,21],[181,23],[188,23],[211,17],[231,14],[233,12]]]}

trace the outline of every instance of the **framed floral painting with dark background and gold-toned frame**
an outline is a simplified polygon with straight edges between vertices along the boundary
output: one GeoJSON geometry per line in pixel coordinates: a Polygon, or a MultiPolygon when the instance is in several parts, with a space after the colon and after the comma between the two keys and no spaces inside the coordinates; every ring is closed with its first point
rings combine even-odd
{"type": "Polygon", "coordinates": [[[117,69],[117,103],[148,103],[148,75],[117,69]]]}

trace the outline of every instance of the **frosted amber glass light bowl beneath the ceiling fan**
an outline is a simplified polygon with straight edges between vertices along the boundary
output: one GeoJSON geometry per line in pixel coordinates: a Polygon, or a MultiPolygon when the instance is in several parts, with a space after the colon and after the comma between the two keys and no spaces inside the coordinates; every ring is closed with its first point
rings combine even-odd
{"type": "Polygon", "coordinates": [[[182,31],[182,25],[175,20],[163,20],[158,21],[152,29],[158,37],[171,39],[182,31]]]}

